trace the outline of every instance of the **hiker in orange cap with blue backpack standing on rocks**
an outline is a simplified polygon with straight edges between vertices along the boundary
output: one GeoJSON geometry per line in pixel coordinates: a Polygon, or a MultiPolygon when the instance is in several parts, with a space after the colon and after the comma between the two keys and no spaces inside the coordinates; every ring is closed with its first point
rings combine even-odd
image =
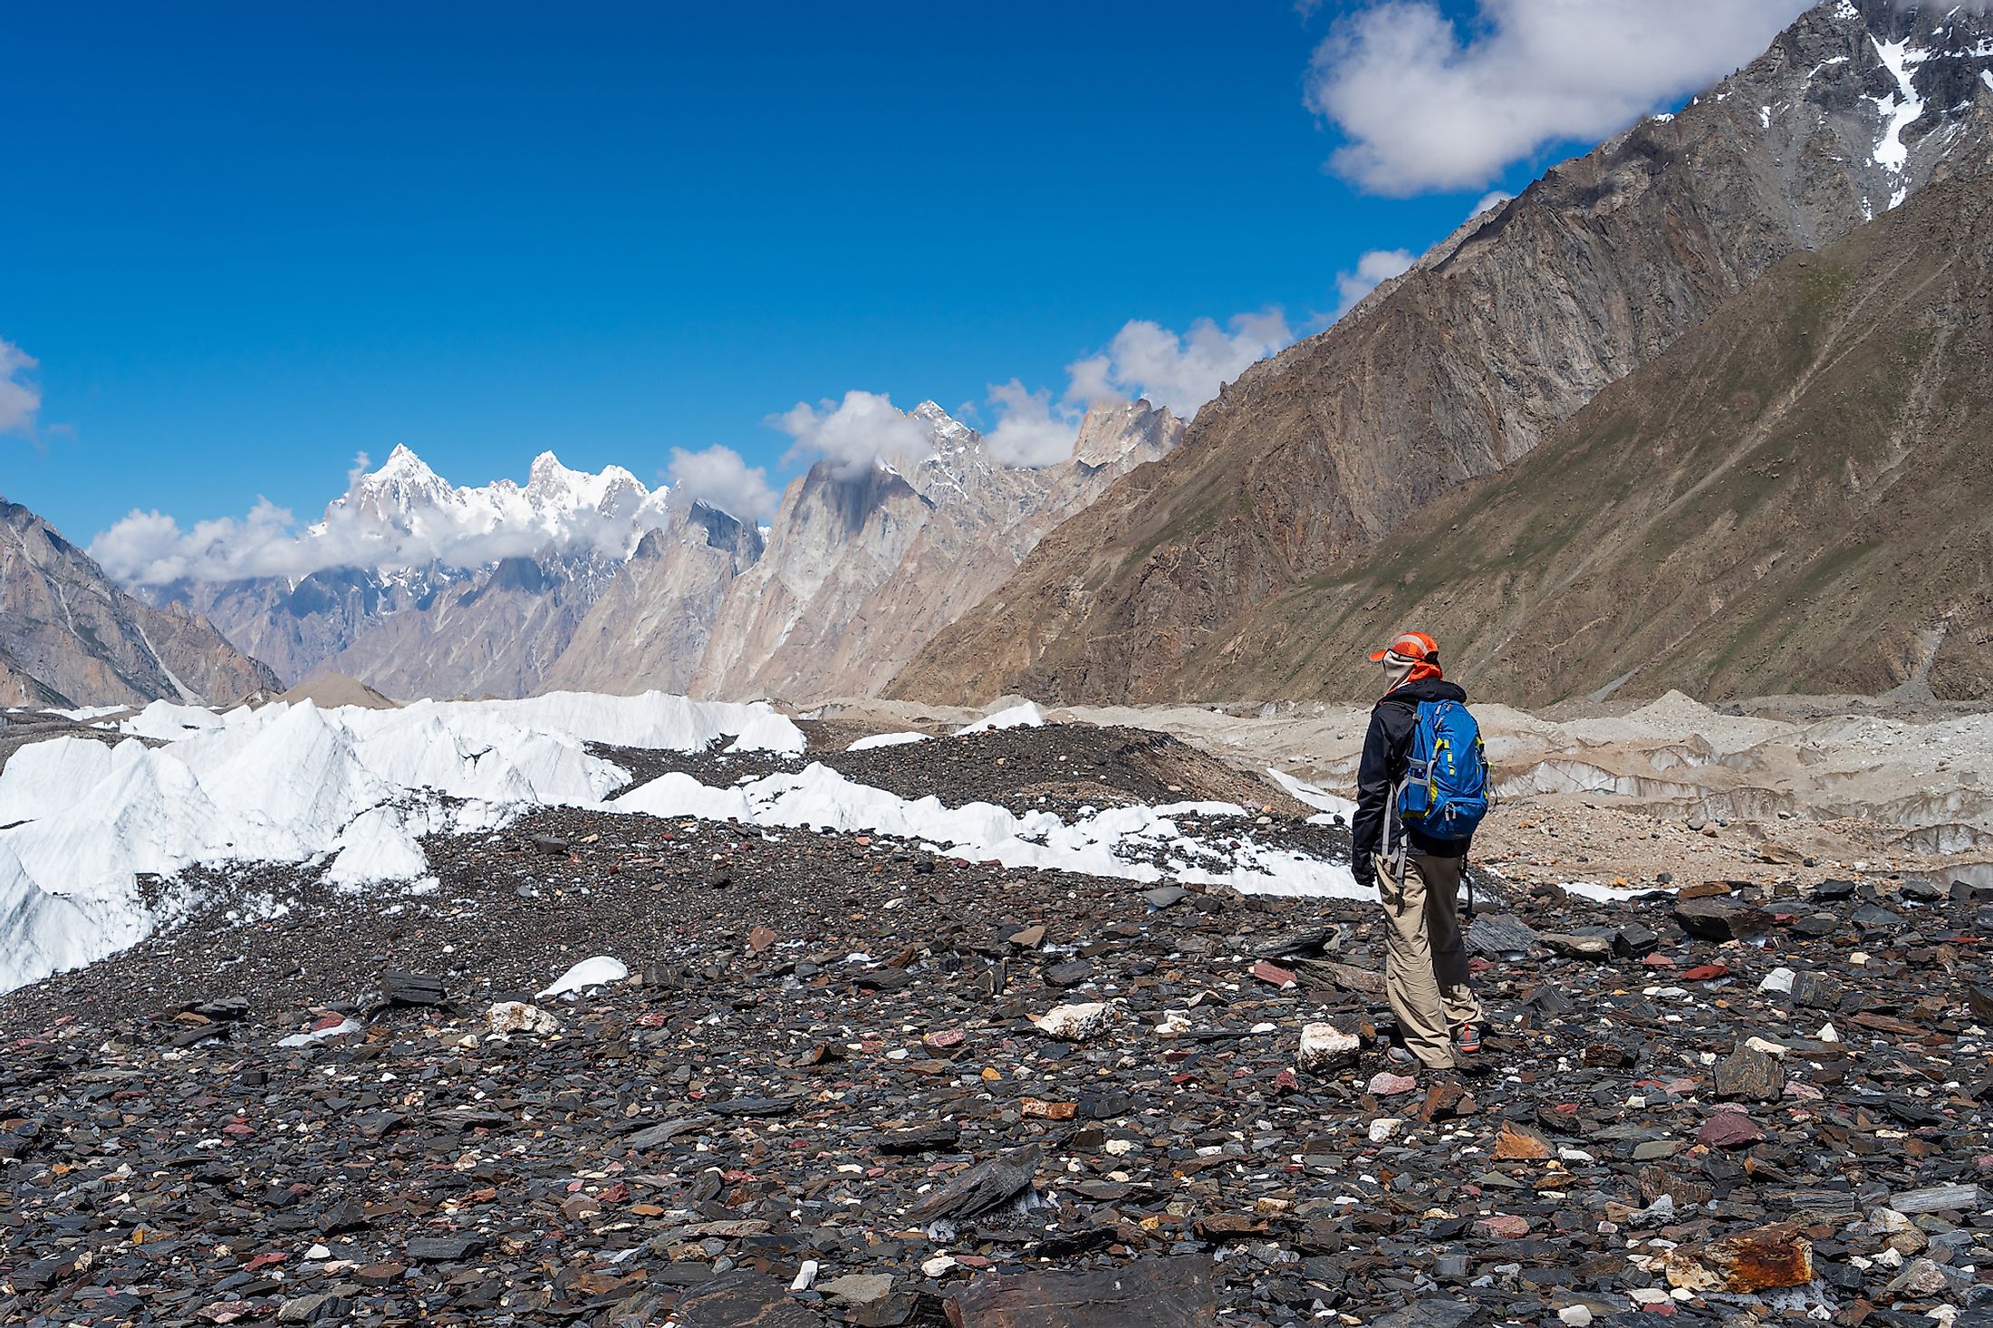
{"type": "Polygon", "coordinates": [[[1487,764],[1467,692],[1445,680],[1431,636],[1405,632],[1371,660],[1387,688],[1363,738],[1349,865],[1357,885],[1377,885],[1391,923],[1383,981],[1403,1045],[1389,1061],[1447,1071],[1481,1051],[1459,891],[1487,812],[1487,764]]]}

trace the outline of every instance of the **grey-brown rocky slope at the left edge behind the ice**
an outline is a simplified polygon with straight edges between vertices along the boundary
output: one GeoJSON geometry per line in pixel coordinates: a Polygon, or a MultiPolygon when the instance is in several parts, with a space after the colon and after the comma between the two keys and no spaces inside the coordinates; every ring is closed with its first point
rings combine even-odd
{"type": "Polygon", "coordinates": [[[0,498],[0,704],[227,704],[277,690],[269,668],[183,608],[120,590],[90,554],[0,498]]]}

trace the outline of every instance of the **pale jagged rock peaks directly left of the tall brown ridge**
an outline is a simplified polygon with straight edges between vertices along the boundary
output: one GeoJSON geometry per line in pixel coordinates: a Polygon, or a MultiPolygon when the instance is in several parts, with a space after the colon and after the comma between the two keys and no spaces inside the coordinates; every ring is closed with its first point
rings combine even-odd
{"type": "Polygon", "coordinates": [[[927,429],[925,455],[883,457],[857,477],[819,463],[789,487],[765,556],[719,606],[696,692],[879,692],[1046,530],[1182,437],[1168,411],[1116,403],[1086,415],[1066,461],[1014,469],[933,401],[911,417],[927,429]]]}

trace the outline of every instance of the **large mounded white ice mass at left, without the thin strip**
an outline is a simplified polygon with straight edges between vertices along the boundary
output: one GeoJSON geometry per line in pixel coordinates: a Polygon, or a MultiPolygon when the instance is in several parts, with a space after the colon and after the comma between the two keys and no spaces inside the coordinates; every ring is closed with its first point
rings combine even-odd
{"type": "Polygon", "coordinates": [[[227,714],[155,702],[122,728],[116,748],[52,738],[0,772],[0,991],[143,939],[161,917],[140,875],[327,861],[333,885],[415,879],[425,833],[594,806],[628,784],[588,742],[803,750],[769,706],[656,692],[227,714]]]}

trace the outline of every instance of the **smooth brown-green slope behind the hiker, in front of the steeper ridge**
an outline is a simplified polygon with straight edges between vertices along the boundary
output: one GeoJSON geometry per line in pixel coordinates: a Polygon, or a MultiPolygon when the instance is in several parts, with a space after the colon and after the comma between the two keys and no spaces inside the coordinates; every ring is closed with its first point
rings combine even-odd
{"type": "Polygon", "coordinates": [[[1778,263],[1499,475],[1190,656],[1363,696],[1401,628],[1477,698],[1993,694],[1993,179],[1778,263]]]}

